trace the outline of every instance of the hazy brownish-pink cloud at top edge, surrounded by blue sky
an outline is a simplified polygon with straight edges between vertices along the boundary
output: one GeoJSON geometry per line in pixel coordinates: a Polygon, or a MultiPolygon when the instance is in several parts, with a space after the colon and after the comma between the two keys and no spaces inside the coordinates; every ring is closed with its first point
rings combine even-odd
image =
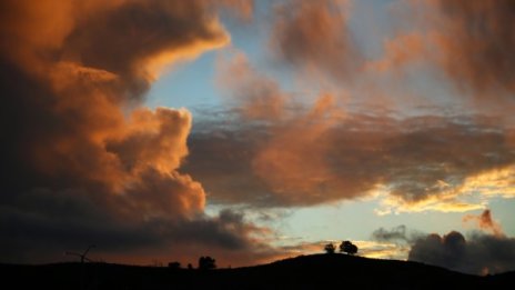
{"type": "Polygon", "coordinates": [[[361,54],[347,28],[347,8],[331,0],[277,6],[272,48],[286,63],[309,72],[340,82],[351,79],[361,64],[361,54]]]}

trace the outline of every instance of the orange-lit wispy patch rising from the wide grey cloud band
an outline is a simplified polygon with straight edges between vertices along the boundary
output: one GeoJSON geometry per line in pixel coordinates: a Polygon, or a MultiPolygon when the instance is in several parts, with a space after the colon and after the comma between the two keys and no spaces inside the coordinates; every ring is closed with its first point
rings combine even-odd
{"type": "Polygon", "coordinates": [[[334,102],[333,96],[321,96],[305,116],[277,128],[252,161],[255,174],[286,202],[311,203],[341,186],[325,159],[330,144],[322,141],[340,117],[334,102]]]}

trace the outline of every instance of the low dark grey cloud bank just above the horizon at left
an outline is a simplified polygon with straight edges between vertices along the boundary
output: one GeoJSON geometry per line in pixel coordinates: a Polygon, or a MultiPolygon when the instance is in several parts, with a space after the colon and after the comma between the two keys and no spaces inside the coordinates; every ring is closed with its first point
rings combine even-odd
{"type": "MultiPolygon", "coordinates": [[[[265,236],[266,229],[248,222],[241,213],[225,210],[218,217],[142,219],[139,212],[123,216],[91,199],[89,192],[34,190],[19,194],[16,206],[3,204],[2,262],[69,260],[63,256],[65,250],[81,250],[88,244],[97,244],[94,258],[138,263],[164,257],[189,261],[209,252],[224,262],[248,264],[260,256],[275,253],[250,237],[265,236]]],[[[127,200],[114,198],[108,202],[122,207],[127,200]]]]}

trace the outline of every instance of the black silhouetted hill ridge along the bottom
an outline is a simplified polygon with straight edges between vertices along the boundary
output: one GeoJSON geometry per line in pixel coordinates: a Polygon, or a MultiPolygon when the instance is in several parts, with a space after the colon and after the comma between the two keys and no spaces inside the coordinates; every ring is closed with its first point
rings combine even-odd
{"type": "Polygon", "coordinates": [[[497,289],[515,281],[515,272],[478,277],[337,253],[208,271],[110,263],[1,264],[0,271],[20,289],[497,289]]]}

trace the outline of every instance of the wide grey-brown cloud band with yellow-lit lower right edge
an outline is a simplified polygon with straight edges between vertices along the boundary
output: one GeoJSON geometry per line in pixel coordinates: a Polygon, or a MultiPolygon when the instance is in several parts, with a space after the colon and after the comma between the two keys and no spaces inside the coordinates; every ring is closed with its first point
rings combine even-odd
{"type": "Polygon", "coordinates": [[[333,101],[272,124],[210,123],[192,134],[184,172],[213,202],[258,207],[376,197],[385,212],[468,211],[512,196],[509,130],[474,116],[342,113],[333,101]]]}

